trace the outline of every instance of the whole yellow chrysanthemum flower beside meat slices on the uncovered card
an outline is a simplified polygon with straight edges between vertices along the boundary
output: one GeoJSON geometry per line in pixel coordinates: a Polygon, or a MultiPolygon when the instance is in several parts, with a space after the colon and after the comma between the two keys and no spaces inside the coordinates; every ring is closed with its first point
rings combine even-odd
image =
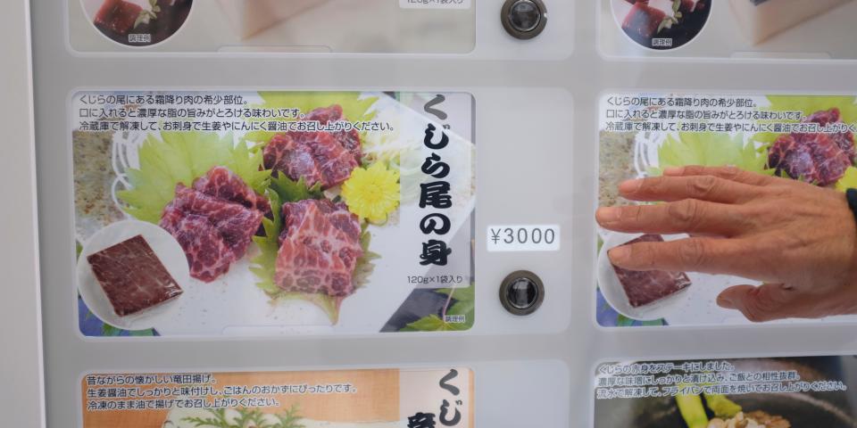
{"type": "Polygon", "coordinates": [[[399,206],[399,173],[382,162],[368,169],[356,168],[342,185],[342,197],[357,217],[384,223],[399,206]]]}

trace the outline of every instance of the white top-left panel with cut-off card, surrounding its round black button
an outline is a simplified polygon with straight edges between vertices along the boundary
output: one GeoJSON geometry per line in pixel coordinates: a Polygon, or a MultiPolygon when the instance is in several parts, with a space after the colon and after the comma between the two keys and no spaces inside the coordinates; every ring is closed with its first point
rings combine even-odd
{"type": "MultiPolygon", "coordinates": [[[[573,26],[562,25],[574,18],[573,2],[548,4],[545,31],[526,41],[503,30],[499,20],[503,0],[478,4],[424,2],[427,7],[414,7],[420,2],[408,4],[404,0],[186,0],[175,9],[165,5],[162,23],[157,19],[152,19],[151,23],[122,19],[121,13],[111,19],[99,19],[105,3],[107,9],[102,16],[112,17],[113,12],[108,11],[116,9],[115,0],[63,2],[68,14],[71,51],[87,56],[103,53],[264,53],[268,56],[323,57],[386,54],[557,60],[570,55],[574,42],[573,26]],[[122,22],[124,24],[117,27],[122,22]],[[171,36],[164,38],[166,34],[171,36]]],[[[145,0],[129,3],[137,6],[126,12],[129,16],[152,9],[145,0]]]]}

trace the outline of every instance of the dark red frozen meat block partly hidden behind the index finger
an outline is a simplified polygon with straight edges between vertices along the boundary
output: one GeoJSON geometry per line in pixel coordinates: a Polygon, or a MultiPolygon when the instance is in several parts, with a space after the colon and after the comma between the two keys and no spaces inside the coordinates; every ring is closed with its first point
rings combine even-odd
{"type": "MultiPolygon", "coordinates": [[[[661,235],[643,235],[625,243],[662,243],[661,235]]],[[[684,272],[649,270],[645,272],[628,270],[613,265],[619,276],[619,282],[628,296],[628,302],[634,308],[649,305],[657,300],[669,297],[690,286],[690,278],[684,272]]]]}

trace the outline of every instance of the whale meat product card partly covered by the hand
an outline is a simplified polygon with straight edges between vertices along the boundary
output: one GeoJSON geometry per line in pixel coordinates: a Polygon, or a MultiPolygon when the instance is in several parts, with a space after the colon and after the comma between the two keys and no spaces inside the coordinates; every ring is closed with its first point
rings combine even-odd
{"type": "MultiPolygon", "coordinates": [[[[598,200],[603,207],[647,204],[623,198],[620,183],[691,165],[733,166],[842,192],[857,185],[853,95],[607,94],[599,112],[598,200]]],[[[686,237],[599,227],[598,324],[750,324],[740,312],[723,309],[716,300],[730,286],[757,282],[692,272],[634,272],[614,266],[607,256],[628,243],[686,237]]],[[[835,310],[819,315],[820,319],[802,322],[857,321],[835,310]]]]}

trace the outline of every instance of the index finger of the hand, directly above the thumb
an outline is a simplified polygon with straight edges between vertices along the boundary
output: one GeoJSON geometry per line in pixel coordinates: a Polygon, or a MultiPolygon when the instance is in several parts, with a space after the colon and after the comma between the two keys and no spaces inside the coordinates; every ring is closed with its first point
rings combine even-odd
{"type": "Polygon", "coordinates": [[[701,272],[754,278],[751,245],[740,239],[694,237],[662,243],[632,243],[608,251],[611,262],[628,270],[701,272]]]}

